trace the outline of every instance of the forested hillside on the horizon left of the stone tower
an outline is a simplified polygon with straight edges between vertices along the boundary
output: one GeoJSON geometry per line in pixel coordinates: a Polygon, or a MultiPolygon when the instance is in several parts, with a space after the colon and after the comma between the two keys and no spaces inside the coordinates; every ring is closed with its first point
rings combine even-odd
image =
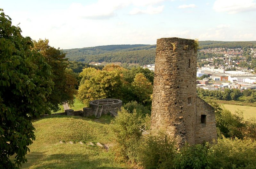
{"type": "Polygon", "coordinates": [[[122,62],[140,65],[154,63],[156,45],[109,45],[81,49],[67,49],[66,57],[70,61],[122,62]]]}

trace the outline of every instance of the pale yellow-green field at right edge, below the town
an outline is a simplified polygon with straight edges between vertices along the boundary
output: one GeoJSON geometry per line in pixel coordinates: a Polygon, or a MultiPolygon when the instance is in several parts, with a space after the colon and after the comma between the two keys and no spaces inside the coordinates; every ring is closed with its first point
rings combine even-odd
{"type": "Polygon", "coordinates": [[[256,117],[256,107],[221,104],[221,108],[228,109],[231,113],[234,113],[237,109],[242,110],[245,119],[256,117]]]}

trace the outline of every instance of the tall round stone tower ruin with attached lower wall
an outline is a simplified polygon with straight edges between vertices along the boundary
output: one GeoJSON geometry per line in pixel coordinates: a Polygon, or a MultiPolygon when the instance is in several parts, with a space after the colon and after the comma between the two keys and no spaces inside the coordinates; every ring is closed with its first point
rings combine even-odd
{"type": "Polygon", "coordinates": [[[196,43],[161,38],[156,43],[151,129],[184,143],[217,139],[214,109],[196,96],[196,43]]]}

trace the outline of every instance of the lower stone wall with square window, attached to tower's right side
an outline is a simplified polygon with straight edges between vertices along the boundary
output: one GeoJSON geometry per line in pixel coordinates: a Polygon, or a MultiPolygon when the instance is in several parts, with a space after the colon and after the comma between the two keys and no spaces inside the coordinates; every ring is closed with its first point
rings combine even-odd
{"type": "Polygon", "coordinates": [[[199,97],[196,97],[196,115],[196,144],[217,140],[214,109],[199,97]],[[205,115],[205,123],[201,123],[201,115],[205,115]]]}

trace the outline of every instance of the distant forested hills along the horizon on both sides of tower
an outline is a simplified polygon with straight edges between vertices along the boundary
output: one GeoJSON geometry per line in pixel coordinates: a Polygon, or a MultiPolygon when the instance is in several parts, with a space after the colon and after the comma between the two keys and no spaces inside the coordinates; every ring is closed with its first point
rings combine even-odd
{"type": "MultiPolygon", "coordinates": [[[[199,41],[201,49],[226,48],[256,48],[256,41],[199,41]]],[[[70,61],[90,62],[121,62],[147,65],[155,62],[156,45],[107,45],[76,49],[65,49],[70,61]]]]}

